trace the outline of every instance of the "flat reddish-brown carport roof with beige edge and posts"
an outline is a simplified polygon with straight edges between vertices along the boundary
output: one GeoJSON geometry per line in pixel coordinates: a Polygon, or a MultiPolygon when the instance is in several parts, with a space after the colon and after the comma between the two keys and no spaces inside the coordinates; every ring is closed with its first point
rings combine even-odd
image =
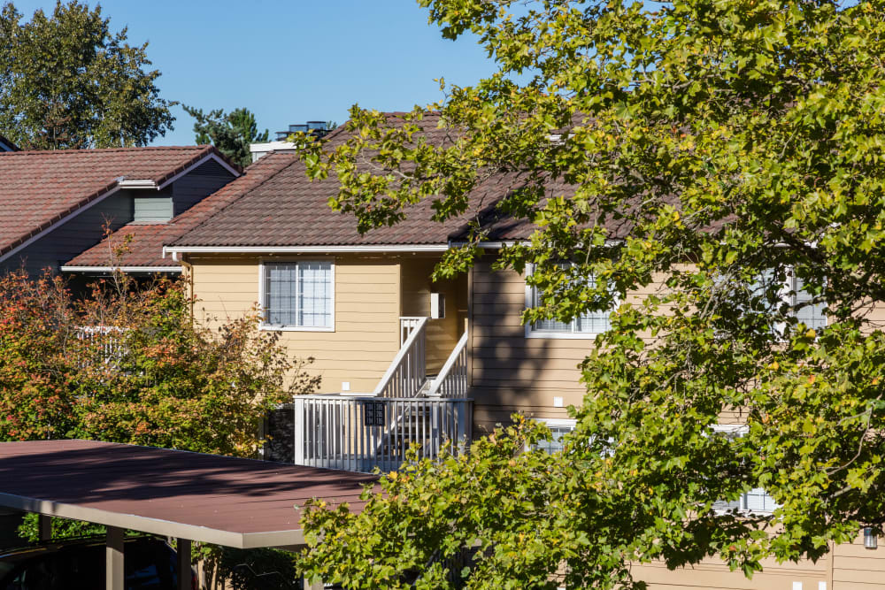
{"type": "Polygon", "coordinates": [[[178,540],[179,586],[190,590],[190,543],[304,546],[300,507],[349,502],[374,477],[165,448],[97,441],[0,443],[0,506],[108,527],[106,590],[123,590],[125,529],[178,540]]]}

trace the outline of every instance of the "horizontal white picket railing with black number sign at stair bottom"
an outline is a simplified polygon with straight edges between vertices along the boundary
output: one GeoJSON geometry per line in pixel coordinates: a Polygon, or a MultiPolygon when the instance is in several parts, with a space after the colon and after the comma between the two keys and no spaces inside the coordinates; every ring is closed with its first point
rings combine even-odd
{"type": "Polygon", "coordinates": [[[296,395],[295,464],[348,471],[399,469],[417,443],[419,458],[469,445],[473,400],[296,395]]]}

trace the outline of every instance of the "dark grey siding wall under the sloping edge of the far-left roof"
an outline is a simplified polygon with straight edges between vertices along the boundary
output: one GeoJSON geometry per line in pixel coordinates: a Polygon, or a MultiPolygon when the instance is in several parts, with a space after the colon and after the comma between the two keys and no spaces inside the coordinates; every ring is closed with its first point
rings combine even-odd
{"type": "Polygon", "coordinates": [[[5,271],[18,270],[24,265],[32,275],[39,274],[44,268],[58,271],[58,266],[102,240],[105,223],[116,231],[132,221],[132,216],[132,191],[119,191],[43,235],[26,248],[20,249],[0,264],[5,271]]]}

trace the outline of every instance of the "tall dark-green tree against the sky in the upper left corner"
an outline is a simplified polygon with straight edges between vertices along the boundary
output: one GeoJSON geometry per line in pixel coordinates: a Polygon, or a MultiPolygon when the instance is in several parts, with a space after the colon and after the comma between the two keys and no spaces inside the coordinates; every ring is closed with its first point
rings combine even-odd
{"type": "Polygon", "coordinates": [[[0,129],[26,149],[147,145],[172,129],[147,43],[130,46],[101,7],[72,0],[29,21],[0,9],[0,129]]]}

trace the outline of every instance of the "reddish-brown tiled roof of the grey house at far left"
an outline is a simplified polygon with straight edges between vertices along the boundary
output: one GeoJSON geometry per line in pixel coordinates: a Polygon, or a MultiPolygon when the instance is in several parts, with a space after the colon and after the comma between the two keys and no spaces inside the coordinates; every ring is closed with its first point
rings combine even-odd
{"type": "Polygon", "coordinates": [[[212,146],[0,152],[0,256],[107,191],[119,180],[162,184],[212,146]]]}

